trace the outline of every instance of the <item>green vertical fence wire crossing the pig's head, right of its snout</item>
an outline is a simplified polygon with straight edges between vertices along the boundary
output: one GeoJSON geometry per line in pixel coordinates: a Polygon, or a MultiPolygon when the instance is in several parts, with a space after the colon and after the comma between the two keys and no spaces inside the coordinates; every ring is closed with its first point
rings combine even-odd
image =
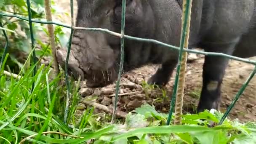
{"type": "Polygon", "coordinates": [[[116,91],[115,91],[115,103],[114,103],[114,109],[112,114],[112,120],[111,123],[115,122],[115,114],[117,110],[117,100],[118,100],[118,93],[119,93],[119,87],[120,87],[120,81],[121,81],[121,75],[123,72],[123,59],[124,59],[124,32],[125,32],[125,8],[126,8],[126,0],[122,0],[122,22],[121,22],[121,56],[120,56],[120,67],[118,72],[118,79],[116,84],[116,91]]]}

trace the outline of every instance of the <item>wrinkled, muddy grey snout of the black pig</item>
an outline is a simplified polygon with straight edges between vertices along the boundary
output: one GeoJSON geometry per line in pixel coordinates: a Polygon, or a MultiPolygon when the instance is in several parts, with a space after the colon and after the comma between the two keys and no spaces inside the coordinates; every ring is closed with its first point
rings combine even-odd
{"type": "MultiPolygon", "coordinates": [[[[68,61],[68,74],[86,80],[88,87],[101,87],[117,79],[117,58],[119,51],[112,49],[101,35],[74,33],[68,61]]],[[[62,68],[65,68],[66,50],[57,50],[56,55],[62,68]]]]}

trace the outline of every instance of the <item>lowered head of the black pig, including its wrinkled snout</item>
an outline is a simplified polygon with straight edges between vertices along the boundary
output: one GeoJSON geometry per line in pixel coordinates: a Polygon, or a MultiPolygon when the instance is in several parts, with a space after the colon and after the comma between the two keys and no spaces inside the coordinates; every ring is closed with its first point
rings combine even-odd
{"type": "MultiPolygon", "coordinates": [[[[77,0],[76,27],[95,27],[120,33],[122,0],[77,0]]],[[[147,0],[126,0],[126,28],[135,35],[150,10],[142,8],[147,0]],[[141,21],[142,20],[142,21],[141,21]]],[[[150,17],[148,18],[150,19],[150,17]]],[[[140,35],[141,36],[141,35],[140,35]]],[[[126,44],[128,45],[128,44],[126,44]]],[[[65,68],[67,50],[56,51],[57,60],[65,68]]],[[[101,87],[115,82],[120,63],[120,37],[104,32],[75,29],[68,61],[68,73],[87,81],[88,87],[101,87]]]]}

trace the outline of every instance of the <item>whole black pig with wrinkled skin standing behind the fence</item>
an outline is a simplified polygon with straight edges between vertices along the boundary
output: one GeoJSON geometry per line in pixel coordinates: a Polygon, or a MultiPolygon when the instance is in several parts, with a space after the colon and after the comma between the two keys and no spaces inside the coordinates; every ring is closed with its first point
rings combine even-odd
{"type": "MultiPolygon", "coordinates": [[[[122,0],[77,0],[76,27],[99,27],[120,33],[122,0]]],[[[179,46],[182,0],[126,0],[125,34],[179,46]]],[[[193,0],[189,48],[221,52],[243,58],[256,56],[256,0],[193,0]]],[[[75,30],[72,54],[89,87],[117,80],[120,38],[102,32],[75,30]]],[[[162,64],[149,84],[168,83],[178,51],[162,45],[125,39],[124,72],[145,64],[162,64]]],[[[198,112],[218,109],[221,83],[228,59],[205,56],[203,87],[198,112]],[[207,88],[216,82],[216,88],[207,88]]],[[[77,66],[76,65],[76,66],[77,66]]],[[[78,67],[78,66],[77,66],[78,67]]]]}

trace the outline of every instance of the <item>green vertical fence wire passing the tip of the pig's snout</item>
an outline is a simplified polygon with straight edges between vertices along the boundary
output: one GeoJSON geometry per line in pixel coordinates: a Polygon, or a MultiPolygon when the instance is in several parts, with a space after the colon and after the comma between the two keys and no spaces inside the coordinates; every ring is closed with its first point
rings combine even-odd
{"type": "Polygon", "coordinates": [[[66,107],[65,107],[65,112],[64,112],[64,123],[67,122],[67,115],[68,115],[68,110],[69,110],[69,97],[70,97],[70,83],[68,80],[67,67],[68,67],[72,37],[73,37],[73,33],[74,33],[74,28],[73,28],[74,27],[74,6],[73,5],[74,5],[73,0],[70,0],[71,32],[70,32],[70,37],[69,37],[69,45],[67,48],[67,58],[65,61],[65,80],[66,80],[66,85],[67,85],[67,98],[66,98],[66,107]]]}

